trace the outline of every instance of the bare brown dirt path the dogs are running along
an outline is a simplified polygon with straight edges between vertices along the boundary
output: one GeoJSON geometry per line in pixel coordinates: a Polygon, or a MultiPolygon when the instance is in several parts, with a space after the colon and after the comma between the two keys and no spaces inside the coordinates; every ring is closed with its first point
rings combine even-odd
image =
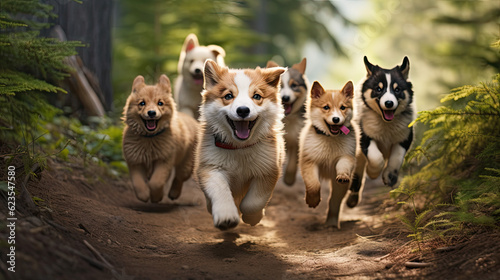
{"type": "MultiPolygon", "coordinates": [[[[88,255],[82,245],[88,241],[122,279],[373,279],[387,265],[381,257],[397,246],[379,236],[386,225],[375,209],[386,188],[368,190],[361,205],[345,207],[337,230],[322,226],[328,188],[319,208],[310,209],[298,176],[293,187],[280,181],[259,225],[221,232],[192,180],[178,201],[154,205],[136,200],[128,180],[101,180],[79,169],[54,165],[32,195],[43,198],[42,209],[67,229],[56,234],[70,240],[63,243],[88,255]]],[[[82,279],[110,277],[73,262],[75,271],[85,271],[82,279]]]]}

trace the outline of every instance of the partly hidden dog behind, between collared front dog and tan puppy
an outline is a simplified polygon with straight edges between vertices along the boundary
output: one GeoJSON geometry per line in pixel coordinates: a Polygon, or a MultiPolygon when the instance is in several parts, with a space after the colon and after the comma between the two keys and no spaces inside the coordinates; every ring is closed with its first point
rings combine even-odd
{"type": "MultiPolygon", "coordinates": [[[[286,167],[283,180],[289,186],[295,183],[297,174],[297,157],[299,153],[299,135],[304,126],[304,106],[309,90],[309,81],[305,75],[306,58],[294,64],[281,76],[281,103],[285,109],[285,144],[286,167]]],[[[268,61],[266,67],[278,67],[273,61],[268,61]]]]}

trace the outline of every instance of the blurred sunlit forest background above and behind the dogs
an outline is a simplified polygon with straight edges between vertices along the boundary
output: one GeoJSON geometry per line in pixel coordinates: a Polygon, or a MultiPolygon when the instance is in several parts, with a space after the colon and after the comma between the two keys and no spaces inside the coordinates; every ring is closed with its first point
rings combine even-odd
{"type": "Polygon", "coordinates": [[[226,50],[230,67],[291,66],[308,59],[309,80],[340,88],[365,75],[363,56],[385,68],[410,59],[419,110],[451,88],[500,70],[500,2],[448,0],[117,1],[113,32],[115,107],[136,75],[177,76],[184,38],[226,50]]]}

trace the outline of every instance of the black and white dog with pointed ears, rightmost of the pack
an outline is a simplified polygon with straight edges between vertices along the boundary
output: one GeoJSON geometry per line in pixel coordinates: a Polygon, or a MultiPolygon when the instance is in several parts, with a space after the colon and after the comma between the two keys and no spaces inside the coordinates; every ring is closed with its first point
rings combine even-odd
{"type": "Polygon", "coordinates": [[[415,119],[412,84],[408,80],[410,61],[392,69],[373,65],[364,58],[367,76],[356,92],[358,149],[356,171],[347,205],[354,207],[361,199],[365,174],[376,179],[382,174],[385,185],[393,187],[406,152],[413,140],[415,119]]]}

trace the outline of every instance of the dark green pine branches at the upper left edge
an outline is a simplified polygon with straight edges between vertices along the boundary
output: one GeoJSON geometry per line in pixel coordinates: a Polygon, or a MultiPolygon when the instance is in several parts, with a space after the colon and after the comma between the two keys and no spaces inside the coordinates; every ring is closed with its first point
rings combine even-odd
{"type": "Polygon", "coordinates": [[[3,0],[0,10],[0,136],[31,142],[40,118],[54,114],[43,93],[65,91],[57,82],[71,69],[63,63],[78,42],[41,38],[43,19],[54,16],[38,0],[3,0]]]}

